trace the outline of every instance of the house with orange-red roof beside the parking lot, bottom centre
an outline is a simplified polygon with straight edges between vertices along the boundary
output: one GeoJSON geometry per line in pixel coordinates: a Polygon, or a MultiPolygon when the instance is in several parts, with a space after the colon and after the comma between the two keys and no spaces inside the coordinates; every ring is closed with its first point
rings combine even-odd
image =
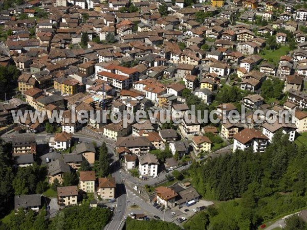
{"type": "Polygon", "coordinates": [[[156,188],[155,191],[157,193],[157,203],[163,205],[165,209],[173,208],[175,206],[178,194],[174,190],[160,186],[156,188]]]}

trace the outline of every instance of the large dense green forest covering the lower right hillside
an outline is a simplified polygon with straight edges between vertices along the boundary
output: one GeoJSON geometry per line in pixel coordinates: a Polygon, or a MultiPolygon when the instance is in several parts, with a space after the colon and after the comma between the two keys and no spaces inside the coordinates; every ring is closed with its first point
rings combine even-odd
{"type": "Polygon", "coordinates": [[[278,132],[264,153],[247,149],[205,165],[193,163],[189,174],[201,195],[227,202],[210,208],[208,221],[195,217],[186,228],[202,224],[203,229],[257,229],[264,221],[305,207],[306,153],[278,132]]]}

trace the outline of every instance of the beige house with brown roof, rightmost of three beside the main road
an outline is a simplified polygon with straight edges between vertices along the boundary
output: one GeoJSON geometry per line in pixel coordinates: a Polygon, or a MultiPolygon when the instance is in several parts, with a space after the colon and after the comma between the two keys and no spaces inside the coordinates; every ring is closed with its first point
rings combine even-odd
{"type": "Polygon", "coordinates": [[[98,178],[97,195],[103,200],[115,198],[116,182],[114,177],[98,178]]]}

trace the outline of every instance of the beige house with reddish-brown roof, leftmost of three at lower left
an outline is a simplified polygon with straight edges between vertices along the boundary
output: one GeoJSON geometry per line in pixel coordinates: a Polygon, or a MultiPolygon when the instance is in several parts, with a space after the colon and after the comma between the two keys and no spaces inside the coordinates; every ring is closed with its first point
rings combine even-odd
{"type": "Polygon", "coordinates": [[[63,206],[77,204],[78,187],[65,186],[57,188],[58,204],[63,206]]]}

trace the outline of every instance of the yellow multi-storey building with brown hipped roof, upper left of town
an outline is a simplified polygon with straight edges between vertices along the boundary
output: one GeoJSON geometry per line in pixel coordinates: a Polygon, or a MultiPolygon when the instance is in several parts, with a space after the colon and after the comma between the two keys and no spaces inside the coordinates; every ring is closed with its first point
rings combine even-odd
{"type": "Polygon", "coordinates": [[[62,95],[75,95],[84,91],[84,85],[74,78],[56,78],[54,79],[53,86],[62,95]]]}

